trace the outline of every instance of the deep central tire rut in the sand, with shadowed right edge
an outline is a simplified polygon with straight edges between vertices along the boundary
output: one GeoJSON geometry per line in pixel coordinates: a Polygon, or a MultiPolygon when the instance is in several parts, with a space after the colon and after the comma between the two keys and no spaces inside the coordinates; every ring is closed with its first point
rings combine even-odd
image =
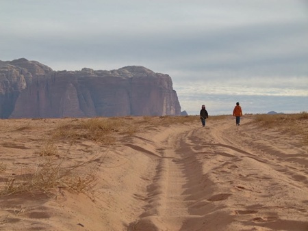
{"type": "Polygon", "coordinates": [[[194,151],[185,143],[191,135],[192,131],[170,134],[162,144],[165,148],[157,148],[162,158],[153,182],[147,187],[148,203],[129,230],[181,230],[191,216],[188,208],[196,202],[195,195],[202,192],[198,179],[203,175],[194,151]]]}

